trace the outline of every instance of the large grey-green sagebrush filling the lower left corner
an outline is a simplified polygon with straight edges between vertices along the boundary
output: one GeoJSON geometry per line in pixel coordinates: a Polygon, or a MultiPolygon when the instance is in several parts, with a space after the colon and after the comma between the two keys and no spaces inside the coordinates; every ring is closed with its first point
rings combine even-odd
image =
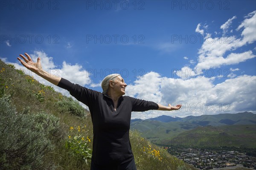
{"type": "Polygon", "coordinates": [[[54,169],[44,156],[54,149],[51,139],[59,139],[55,116],[38,113],[19,114],[0,98],[0,170],[54,169]]]}

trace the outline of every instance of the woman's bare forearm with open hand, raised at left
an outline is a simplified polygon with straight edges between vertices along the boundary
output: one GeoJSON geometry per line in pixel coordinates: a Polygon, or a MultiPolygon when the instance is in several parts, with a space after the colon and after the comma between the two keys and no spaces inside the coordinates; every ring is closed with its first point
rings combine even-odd
{"type": "Polygon", "coordinates": [[[25,53],[25,55],[26,55],[26,57],[24,57],[22,54],[20,54],[20,57],[23,58],[25,62],[22,59],[20,59],[19,57],[17,57],[17,59],[20,61],[20,63],[22,65],[24,65],[24,67],[26,67],[30,71],[34,72],[38,76],[51,82],[52,84],[58,85],[58,83],[61,80],[61,77],[56,77],[52,74],[49,74],[47,71],[44,71],[41,66],[40,57],[38,57],[37,62],[33,62],[31,57],[29,56],[29,54],[25,53]]]}

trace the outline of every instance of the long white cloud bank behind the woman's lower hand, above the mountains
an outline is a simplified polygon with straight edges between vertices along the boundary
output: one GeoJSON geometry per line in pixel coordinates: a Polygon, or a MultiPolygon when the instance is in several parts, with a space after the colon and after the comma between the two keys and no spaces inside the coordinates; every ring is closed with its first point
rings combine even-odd
{"type": "Polygon", "coordinates": [[[217,85],[214,77],[174,79],[150,72],[127,86],[127,94],[162,105],[182,104],[180,111],[147,111],[132,113],[132,119],[148,119],[160,115],[199,116],[202,114],[238,113],[255,111],[256,76],[243,75],[227,79],[217,85]],[[152,97],[152,94],[157,96],[152,97]]]}

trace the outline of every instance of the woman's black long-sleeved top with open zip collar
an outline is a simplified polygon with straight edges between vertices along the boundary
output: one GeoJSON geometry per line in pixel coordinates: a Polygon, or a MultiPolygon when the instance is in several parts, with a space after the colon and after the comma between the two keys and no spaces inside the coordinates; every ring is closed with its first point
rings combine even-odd
{"type": "Polygon", "coordinates": [[[61,78],[58,86],[88,106],[93,122],[92,161],[98,165],[116,165],[134,158],[129,140],[132,111],[157,110],[155,102],[121,96],[116,111],[107,95],[73,84],[61,78]]]}

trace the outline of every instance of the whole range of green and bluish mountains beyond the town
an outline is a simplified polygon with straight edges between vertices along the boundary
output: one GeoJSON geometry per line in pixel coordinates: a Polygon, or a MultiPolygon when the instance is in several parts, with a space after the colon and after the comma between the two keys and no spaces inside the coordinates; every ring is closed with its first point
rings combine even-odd
{"type": "Polygon", "coordinates": [[[164,146],[256,147],[256,114],[251,112],[132,119],[131,129],[139,130],[146,139],[164,146]]]}

